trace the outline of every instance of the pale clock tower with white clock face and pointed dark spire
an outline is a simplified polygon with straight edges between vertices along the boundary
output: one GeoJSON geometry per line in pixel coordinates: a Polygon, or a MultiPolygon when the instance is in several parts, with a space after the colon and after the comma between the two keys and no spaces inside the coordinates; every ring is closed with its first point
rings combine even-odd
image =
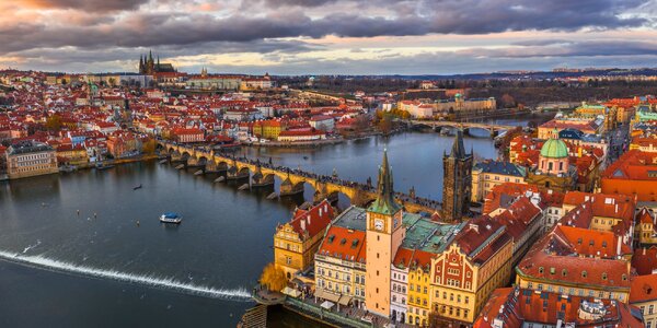
{"type": "Polygon", "coordinates": [[[403,210],[394,200],[392,172],[388,152],[379,167],[377,199],[367,209],[365,305],[367,309],[390,317],[390,269],[404,239],[403,210]]]}

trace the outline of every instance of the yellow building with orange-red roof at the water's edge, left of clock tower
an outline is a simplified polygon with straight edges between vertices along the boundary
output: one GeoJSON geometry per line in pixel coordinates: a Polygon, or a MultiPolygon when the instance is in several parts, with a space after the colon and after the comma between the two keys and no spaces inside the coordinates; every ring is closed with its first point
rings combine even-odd
{"type": "Polygon", "coordinates": [[[288,280],[312,266],[333,218],[333,208],[327,200],[323,200],[309,210],[297,209],[290,222],[276,227],[274,261],[284,269],[288,280]]]}

